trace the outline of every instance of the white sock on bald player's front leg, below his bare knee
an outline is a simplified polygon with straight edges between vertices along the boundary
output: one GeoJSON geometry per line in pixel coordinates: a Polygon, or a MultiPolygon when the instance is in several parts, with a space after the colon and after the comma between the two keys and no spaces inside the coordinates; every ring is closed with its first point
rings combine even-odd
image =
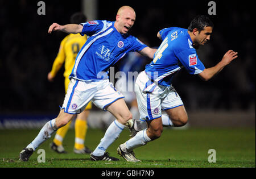
{"type": "Polygon", "coordinates": [[[125,125],[119,123],[117,120],[114,120],[106,130],[100,144],[98,144],[92,154],[94,156],[104,155],[109,145],[111,145],[115,141],[115,139],[119,137],[119,134],[123,131],[123,128],[125,128],[125,125]]]}

